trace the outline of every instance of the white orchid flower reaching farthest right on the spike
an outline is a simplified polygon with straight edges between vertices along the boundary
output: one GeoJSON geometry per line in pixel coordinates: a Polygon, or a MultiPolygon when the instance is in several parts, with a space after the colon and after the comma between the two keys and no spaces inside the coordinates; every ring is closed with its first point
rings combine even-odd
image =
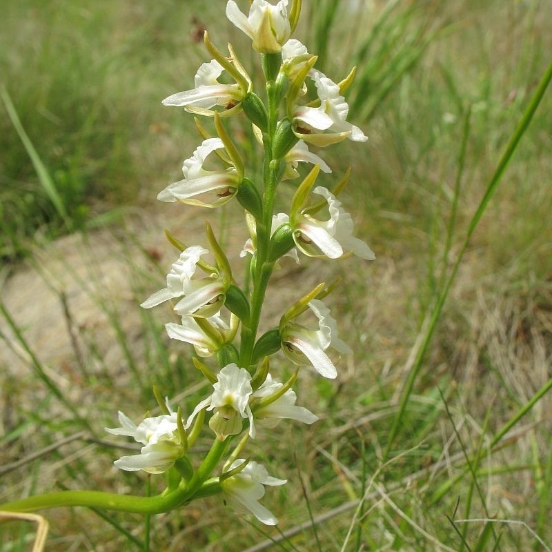
{"type": "Polygon", "coordinates": [[[293,214],[291,226],[297,247],[309,257],[338,259],[351,251],[361,259],[375,259],[371,248],[353,236],[353,219],[342,209],[341,201],[324,186],[317,186],[313,193],[326,199],[330,218],[315,219],[306,210],[293,214]]]}

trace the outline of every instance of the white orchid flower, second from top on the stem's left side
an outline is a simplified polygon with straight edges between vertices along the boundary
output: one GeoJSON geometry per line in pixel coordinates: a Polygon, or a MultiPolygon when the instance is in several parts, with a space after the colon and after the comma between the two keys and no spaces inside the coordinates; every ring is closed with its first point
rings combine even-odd
{"type": "Polygon", "coordinates": [[[201,207],[218,207],[230,201],[236,195],[243,175],[239,175],[237,168],[231,164],[220,170],[204,169],[206,159],[216,150],[224,150],[220,138],[204,140],[192,157],[184,161],[184,179],[169,184],[161,190],[157,199],[201,207]]]}

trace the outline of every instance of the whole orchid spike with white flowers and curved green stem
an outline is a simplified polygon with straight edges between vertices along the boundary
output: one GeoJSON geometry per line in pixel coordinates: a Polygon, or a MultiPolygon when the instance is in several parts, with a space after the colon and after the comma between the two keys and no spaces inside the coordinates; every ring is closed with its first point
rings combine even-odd
{"type": "Polygon", "coordinates": [[[194,88],[163,101],[198,117],[202,141],[184,161],[184,178],[168,185],[158,199],[208,208],[234,201],[245,211],[250,234],[240,254],[247,264],[242,286],[235,281],[210,225],[206,224],[208,248],[184,244],[168,234],[179,249],[178,258],[167,274],[166,287],[141,304],[143,308],[170,304],[180,322],[168,322],[166,332],[194,347],[197,356],[193,364],[212,388],[198,404],[184,404],[176,410],[155,390],[160,415],[135,424],[119,412],[119,427],[106,429],[113,435],[132,437],[141,445],[139,453],[120,457],[115,466],[163,474],[166,490],[153,497],[63,491],[5,504],[4,509],[81,505],[160,513],[221,495],[237,511],[253,513],[264,524],[277,523],[259,500],[265,486],[283,485],[286,480],[268,475],[264,466],[244,454],[246,445],[284,419],[316,422],[315,414],[295,404],[293,385],[308,366],[322,377],[337,377],[336,360],[351,353],[351,348],[339,338],[337,322],[323,302],[333,288],[324,282],[305,290],[304,296],[282,313],[279,323],[259,335],[273,270],[285,256],[295,262],[302,262],[305,256],[375,258],[353,235],[353,219],[337,199],[348,172],[333,191],[316,185],[319,171],[331,173],[331,168],[308,144],[324,148],[344,139],[364,142],[366,136],[346,120],[348,106],[343,94],[351,86],[355,70],[335,83],[315,69],[317,57],[291,38],[300,10],[301,0],[280,0],[275,6],[253,0],[244,14],[235,1],[228,1],[226,16],[250,37],[260,56],[263,89],[255,89],[232,46],[228,46],[228,55],[222,53],[205,32],[205,46],[213,59],[197,71],[194,88]],[[223,72],[229,77],[225,83],[219,82],[223,72]],[[213,120],[216,135],[210,135],[199,117],[213,120]],[[253,173],[248,176],[244,157],[228,130],[230,117],[242,117],[253,126],[264,155],[261,178],[253,173]],[[288,213],[276,213],[279,184],[300,179],[299,164],[312,168],[297,184],[288,213]],[[279,353],[295,367],[286,381],[279,381],[270,371],[271,357],[279,353]],[[197,458],[194,444],[206,426],[213,444],[204,457],[197,458]]]}

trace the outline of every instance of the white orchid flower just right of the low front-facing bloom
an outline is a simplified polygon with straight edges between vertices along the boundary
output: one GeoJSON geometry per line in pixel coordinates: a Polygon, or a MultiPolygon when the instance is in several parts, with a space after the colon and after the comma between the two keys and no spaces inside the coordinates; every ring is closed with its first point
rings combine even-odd
{"type": "MultiPolygon", "coordinates": [[[[275,382],[272,376],[268,374],[263,384],[253,392],[253,404],[255,399],[266,399],[273,397],[284,387],[284,384],[275,382]]],[[[253,407],[255,421],[267,428],[273,428],[281,420],[295,420],[304,424],[313,424],[318,420],[318,416],[314,415],[304,406],[295,406],[297,395],[293,389],[288,389],[281,397],[278,397],[266,406],[253,407]]]]}

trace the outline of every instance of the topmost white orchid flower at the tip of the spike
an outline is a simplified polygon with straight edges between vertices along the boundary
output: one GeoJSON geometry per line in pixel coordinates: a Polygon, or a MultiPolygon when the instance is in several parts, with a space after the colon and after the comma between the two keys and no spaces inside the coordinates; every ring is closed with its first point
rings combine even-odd
{"type": "Polygon", "coordinates": [[[253,0],[249,15],[242,13],[237,3],[229,0],[226,17],[253,41],[253,49],[262,54],[282,51],[291,34],[288,19],[288,0],[280,0],[273,6],[266,0],[253,0]]]}

